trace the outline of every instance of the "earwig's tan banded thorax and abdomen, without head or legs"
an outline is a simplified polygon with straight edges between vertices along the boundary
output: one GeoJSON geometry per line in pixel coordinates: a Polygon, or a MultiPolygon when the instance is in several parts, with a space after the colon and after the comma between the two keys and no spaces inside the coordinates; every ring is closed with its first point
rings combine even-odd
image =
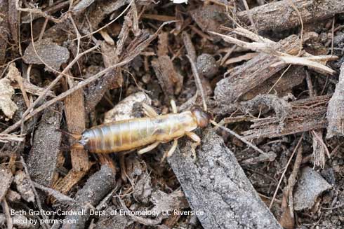
{"type": "Polygon", "coordinates": [[[190,124],[190,121],[192,118],[180,113],[121,120],[86,130],[82,134],[81,144],[91,153],[131,150],[155,141],[170,141],[181,137],[185,133],[185,125],[190,124]]]}

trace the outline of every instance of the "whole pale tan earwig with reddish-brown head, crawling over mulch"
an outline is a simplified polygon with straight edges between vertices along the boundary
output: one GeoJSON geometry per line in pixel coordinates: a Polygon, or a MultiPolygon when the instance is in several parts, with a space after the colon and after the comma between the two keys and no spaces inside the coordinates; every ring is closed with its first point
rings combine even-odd
{"type": "Polygon", "coordinates": [[[176,104],[171,104],[174,113],[159,116],[152,107],[145,104],[143,108],[148,116],[146,118],[120,120],[85,130],[79,143],[72,147],[82,147],[91,153],[116,153],[147,146],[138,151],[146,153],[160,143],[173,140],[173,146],[167,153],[169,156],[176,149],[177,139],[184,135],[193,139],[197,145],[200,144],[201,139],[192,130],[208,125],[208,114],[201,109],[177,113],[176,104]]]}

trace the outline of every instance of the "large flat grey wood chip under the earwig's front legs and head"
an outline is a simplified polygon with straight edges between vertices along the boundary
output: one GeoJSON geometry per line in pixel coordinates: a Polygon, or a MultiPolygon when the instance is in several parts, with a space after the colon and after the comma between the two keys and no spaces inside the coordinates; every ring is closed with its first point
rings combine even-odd
{"type": "Polygon", "coordinates": [[[281,228],[249,182],[234,154],[212,128],[204,130],[197,162],[191,144],[168,163],[204,228],[281,228]]]}

